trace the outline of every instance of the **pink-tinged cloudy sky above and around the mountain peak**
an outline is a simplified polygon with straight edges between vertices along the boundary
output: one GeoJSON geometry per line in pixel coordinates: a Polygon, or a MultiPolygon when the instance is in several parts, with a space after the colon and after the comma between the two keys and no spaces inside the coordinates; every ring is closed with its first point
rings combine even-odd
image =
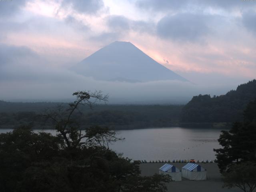
{"type": "Polygon", "coordinates": [[[34,82],[82,78],[68,68],[116,40],[196,84],[256,76],[254,0],[0,1],[0,26],[3,98],[11,85],[30,94],[34,82]]]}

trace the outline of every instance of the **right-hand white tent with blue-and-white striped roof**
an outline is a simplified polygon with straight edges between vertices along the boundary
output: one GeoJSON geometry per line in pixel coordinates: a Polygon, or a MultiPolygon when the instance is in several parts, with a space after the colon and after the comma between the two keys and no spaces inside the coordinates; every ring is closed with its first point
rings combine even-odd
{"type": "Polygon", "coordinates": [[[188,163],[182,167],[182,177],[189,180],[206,180],[206,169],[198,164],[188,163]]]}

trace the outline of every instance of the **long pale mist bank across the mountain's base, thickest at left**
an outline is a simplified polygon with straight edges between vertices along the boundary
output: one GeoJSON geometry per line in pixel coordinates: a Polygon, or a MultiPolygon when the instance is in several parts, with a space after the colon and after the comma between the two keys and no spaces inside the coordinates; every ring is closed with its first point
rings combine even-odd
{"type": "Polygon", "coordinates": [[[49,61],[24,46],[2,44],[0,58],[0,98],[3,100],[66,101],[72,99],[71,94],[76,90],[97,89],[109,94],[110,104],[182,104],[196,94],[224,94],[236,87],[199,86],[179,80],[136,83],[95,80],[54,68],[49,61]]]}

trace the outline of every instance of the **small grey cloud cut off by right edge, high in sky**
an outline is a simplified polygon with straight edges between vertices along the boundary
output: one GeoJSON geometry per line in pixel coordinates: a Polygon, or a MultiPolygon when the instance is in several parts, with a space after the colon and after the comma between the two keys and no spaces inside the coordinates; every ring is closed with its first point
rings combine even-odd
{"type": "Polygon", "coordinates": [[[242,15],[242,23],[251,32],[256,34],[256,12],[250,10],[242,15]]]}

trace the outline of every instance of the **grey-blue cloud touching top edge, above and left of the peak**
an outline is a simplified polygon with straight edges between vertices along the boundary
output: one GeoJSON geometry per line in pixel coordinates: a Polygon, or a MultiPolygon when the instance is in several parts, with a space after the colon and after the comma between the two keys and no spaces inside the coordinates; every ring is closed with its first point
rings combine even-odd
{"type": "Polygon", "coordinates": [[[95,14],[104,7],[102,0],[63,0],[62,6],[72,6],[80,13],[95,14]]]}

